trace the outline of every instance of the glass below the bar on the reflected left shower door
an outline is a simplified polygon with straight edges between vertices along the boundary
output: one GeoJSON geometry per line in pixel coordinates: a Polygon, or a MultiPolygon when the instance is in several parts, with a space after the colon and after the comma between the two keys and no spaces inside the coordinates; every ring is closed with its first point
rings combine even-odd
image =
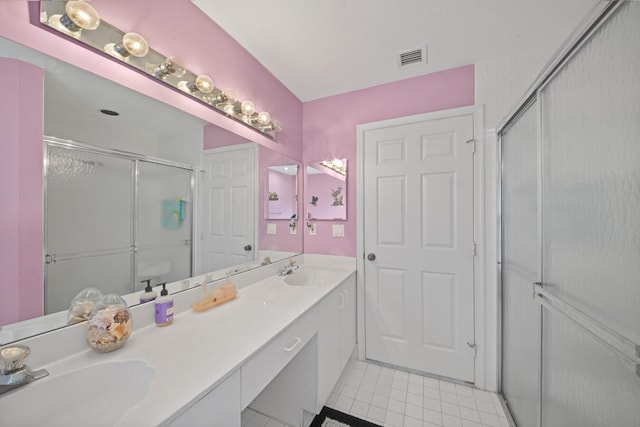
{"type": "Polygon", "coordinates": [[[124,253],[47,264],[45,314],[68,310],[73,297],[84,288],[98,288],[103,294],[130,293],[132,257],[124,253]]]}

